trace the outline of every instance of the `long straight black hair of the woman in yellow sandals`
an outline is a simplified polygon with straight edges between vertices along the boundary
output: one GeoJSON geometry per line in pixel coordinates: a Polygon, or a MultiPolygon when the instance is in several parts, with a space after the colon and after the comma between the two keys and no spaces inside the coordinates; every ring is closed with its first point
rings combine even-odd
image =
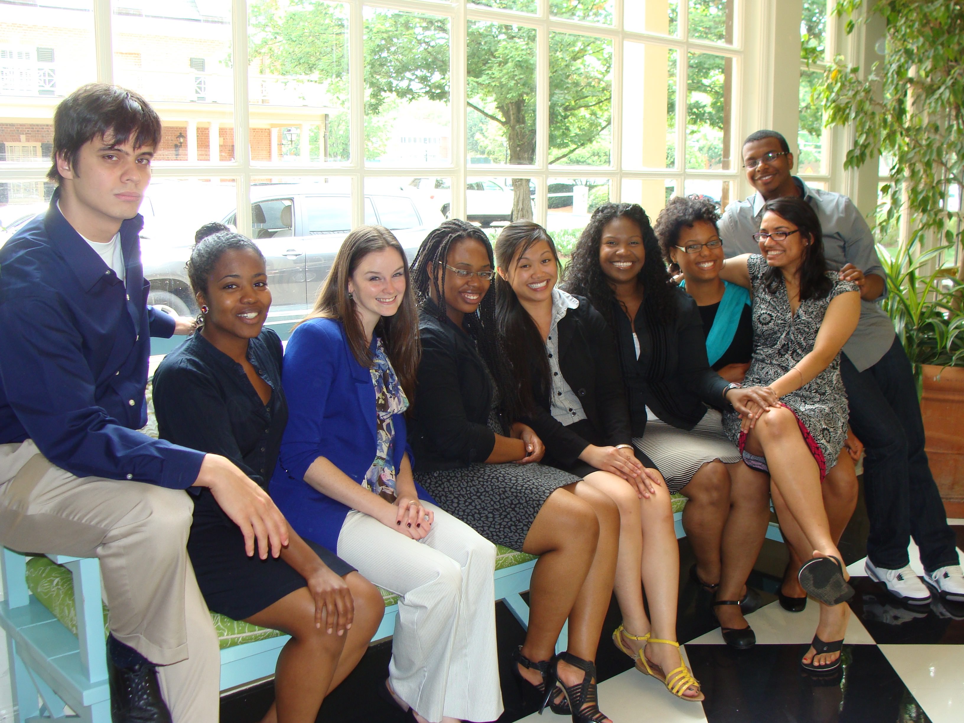
{"type": "MultiPolygon", "coordinates": [[[[555,250],[552,237],[545,228],[532,221],[516,221],[502,229],[495,241],[495,263],[506,274],[512,273],[512,264],[521,254],[540,241],[549,244],[549,250],[559,266],[559,254],[555,250]]],[[[495,320],[502,345],[512,364],[519,383],[519,398],[522,407],[535,409],[533,390],[540,397],[549,390],[549,358],[546,344],[536,326],[535,320],[522,307],[512,284],[499,275],[495,279],[495,320]]]]}

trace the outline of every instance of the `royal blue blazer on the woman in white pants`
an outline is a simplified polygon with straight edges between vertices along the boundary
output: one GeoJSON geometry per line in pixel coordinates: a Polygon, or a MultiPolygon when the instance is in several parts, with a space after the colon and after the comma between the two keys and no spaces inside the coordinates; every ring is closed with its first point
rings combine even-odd
{"type": "MultiPolygon", "coordinates": [[[[374,339],[372,340],[374,343],[374,339]]],[[[371,372],[356,361],[344,327],[334,319],[311,319],[288,339],[281,371],[288,400],[288,425],[270,493],[281,513],[302,537],[337,550],[338,533],[349,507],[311,487],[305,472],[324,457],[361,484],[375,461],[375,387],[371,372]]],[[[395,469],[412,451],[405,415],[394,415],[395,469]]],[[[434,501],[415,485],[419,499],[434,501]]]]}

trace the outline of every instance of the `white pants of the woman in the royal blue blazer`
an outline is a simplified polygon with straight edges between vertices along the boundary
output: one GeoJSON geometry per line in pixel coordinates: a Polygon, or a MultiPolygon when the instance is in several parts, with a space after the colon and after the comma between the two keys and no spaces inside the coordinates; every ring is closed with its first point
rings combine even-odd
{"type": "Polygon", "coordinates": [[[388,678],[427,720],[495,720],[502,694],[495,656],[495,546],[439,507],[421,541],[357,510],[338,535],[338,557],[401,595],[388,678]]]}

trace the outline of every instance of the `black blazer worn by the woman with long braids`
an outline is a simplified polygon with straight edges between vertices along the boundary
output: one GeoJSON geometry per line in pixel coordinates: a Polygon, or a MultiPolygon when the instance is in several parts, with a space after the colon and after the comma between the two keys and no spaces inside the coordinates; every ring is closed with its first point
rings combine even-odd
{"type": "Polygon", "coordinates": [[[447,318],[429,310],[418,315],[421,362],[409,415],[409,443],[415,469],[434,471],[485,462],[495,448],[487,422],[493,388],[475,341],[447,318]]]}

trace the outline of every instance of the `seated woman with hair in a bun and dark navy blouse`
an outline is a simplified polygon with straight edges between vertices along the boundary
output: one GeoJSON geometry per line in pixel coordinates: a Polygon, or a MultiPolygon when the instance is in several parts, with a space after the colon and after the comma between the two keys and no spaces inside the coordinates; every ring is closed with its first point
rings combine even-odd
{"type": "MultiPolygon", "coordinates": [[[[187,268],[201,323],[154,374],[158,433],[227,457],[267,488],[287,403],[281,339],[262,328],[271,308],[264,256],[221,224],[202,227],[196,238],[187,268]]],[[[278,558],[245,554],[244,535],[207,489],[195,497],[187,549],[208,607],[291,635],[265,723],[314,721],[378,629],[385,609],[378,588],[294,532],[278,558]]]]}

